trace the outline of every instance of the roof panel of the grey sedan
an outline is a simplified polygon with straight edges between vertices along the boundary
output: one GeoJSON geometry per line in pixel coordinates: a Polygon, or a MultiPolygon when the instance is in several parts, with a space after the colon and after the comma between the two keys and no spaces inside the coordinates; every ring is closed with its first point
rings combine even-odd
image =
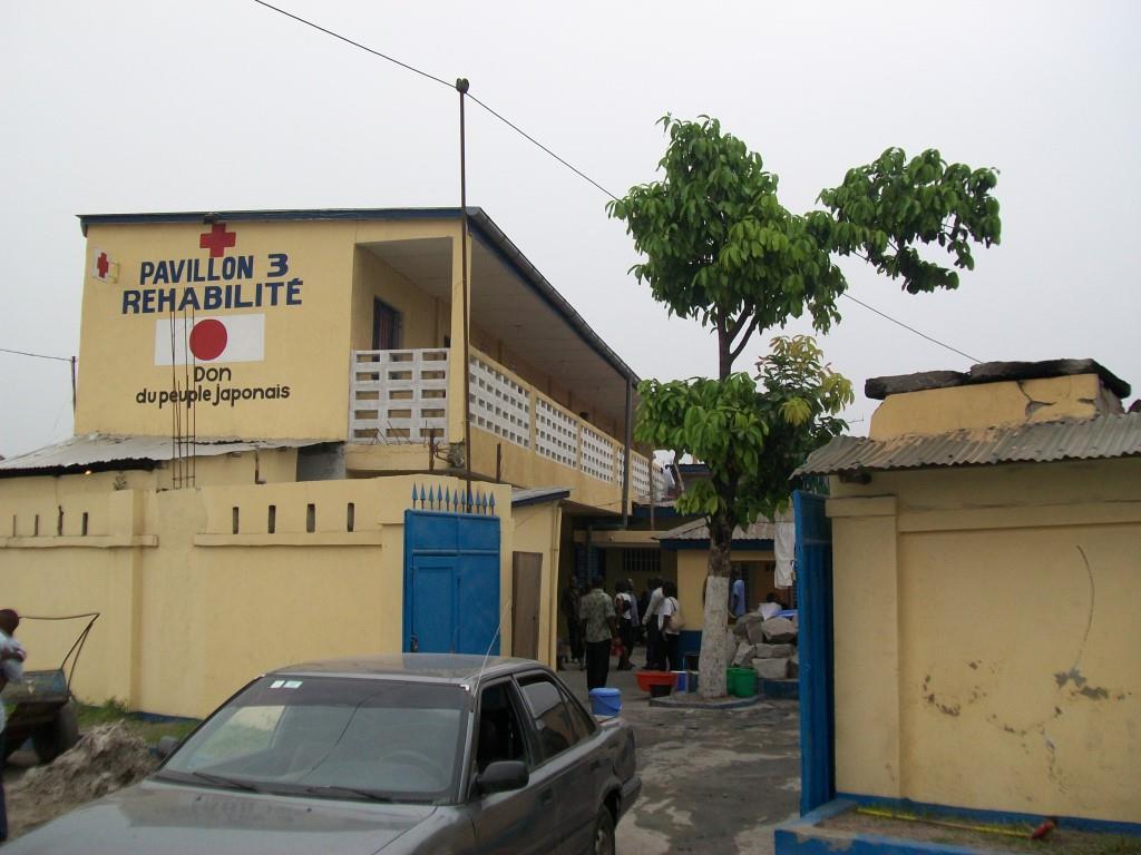
{"type": "Polygon", "coordinates": [[[544,666],[533,659],[507,657],[389,653],[301,662],[277,668],[269,671],[267,676],[371,677],[460,684],[477,682],[480,677],[497,676],[524,669],[544,669],[544,666]]]}

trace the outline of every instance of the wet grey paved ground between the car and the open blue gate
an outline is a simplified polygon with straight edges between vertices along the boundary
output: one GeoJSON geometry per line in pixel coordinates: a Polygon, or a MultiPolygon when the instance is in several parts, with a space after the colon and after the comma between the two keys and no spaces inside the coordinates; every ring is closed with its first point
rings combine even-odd
{"type": "MultiPolygon", "coordinates": [[[[559,675],[586,701],[584,671],[573,666],[559,675]]],[[[795,816],[800,803],[796,701],[652,708],[634,671],[613,666],[607,685],[622,692],[642,775],[642,797],[618,824],[618,853],[770,855],[774,826],[795,816]]]]}

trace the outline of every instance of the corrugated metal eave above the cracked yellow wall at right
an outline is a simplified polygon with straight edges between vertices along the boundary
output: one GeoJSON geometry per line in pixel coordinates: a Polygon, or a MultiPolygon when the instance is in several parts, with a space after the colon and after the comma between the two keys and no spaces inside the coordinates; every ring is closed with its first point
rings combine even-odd
{"type": "Polygon", "coordinates": [[[933,437],[907,435],[888,440],[836,437],[809,455],[796,474],[1090,461],[1136,455],[1141,455],[1141,413],[1124,413],[1083,421],[952,431],[933,437]]]}

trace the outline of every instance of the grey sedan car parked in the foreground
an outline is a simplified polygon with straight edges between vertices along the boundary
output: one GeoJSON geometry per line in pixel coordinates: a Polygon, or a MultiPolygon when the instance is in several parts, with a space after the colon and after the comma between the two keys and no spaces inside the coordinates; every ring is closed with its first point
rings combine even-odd
{"type": "Polygon", "coordinates": [[[222,705],[141,783],[11,855],[614,853],[634,740],[531,660],[291,666],[222,705]]]}

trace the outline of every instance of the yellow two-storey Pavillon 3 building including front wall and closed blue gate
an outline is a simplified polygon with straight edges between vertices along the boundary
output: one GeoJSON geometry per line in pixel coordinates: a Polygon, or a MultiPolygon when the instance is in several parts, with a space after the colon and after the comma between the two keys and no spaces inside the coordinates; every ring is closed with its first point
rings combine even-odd
{"type": "MultiPolygon", "coordinates": [[[[201,715],[315,657],[555,661],[575,530],[661,472],[637,376],[483,211],[80,221],[75,435],[0,462],[5,604],[102,613],[80,697],[201,715]]],[[[72,641],[21,632],[33,668],[72,641]]]]}

